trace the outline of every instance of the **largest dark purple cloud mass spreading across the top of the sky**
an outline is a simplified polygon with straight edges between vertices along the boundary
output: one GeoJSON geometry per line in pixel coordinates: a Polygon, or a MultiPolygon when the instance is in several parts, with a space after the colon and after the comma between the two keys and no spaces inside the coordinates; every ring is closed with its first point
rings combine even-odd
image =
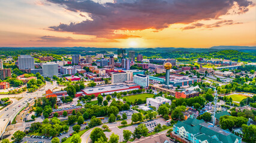
{"type": "Polygon", "coordinates": [[[253,5],[248,0],[116,0],[105,4],[91,0],[48,1],[77,13],[89,13],[92,19],[50,26],[51,30],[95,35],[98,38],[115,38],[116,30],[162,30],[174,23],[189,24],[198,20],[218,19],[234,7],[237,13],[245,13],[253,5]]]}

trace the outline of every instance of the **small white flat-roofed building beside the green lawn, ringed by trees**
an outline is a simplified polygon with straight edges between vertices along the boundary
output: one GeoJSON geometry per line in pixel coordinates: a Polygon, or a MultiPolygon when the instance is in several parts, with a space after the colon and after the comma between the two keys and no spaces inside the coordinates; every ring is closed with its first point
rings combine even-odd
{"type": "Polygon", "coordinates": [[[171,100],[168,100],[163,97],[156,97],[155,99],[147,98],[147,102],[146,102],[147,105],[156,107],[156,109],[158,109],[160,105],[165,104],[165,103],[168,103],[169,105],[171,105],[171,100]]]}

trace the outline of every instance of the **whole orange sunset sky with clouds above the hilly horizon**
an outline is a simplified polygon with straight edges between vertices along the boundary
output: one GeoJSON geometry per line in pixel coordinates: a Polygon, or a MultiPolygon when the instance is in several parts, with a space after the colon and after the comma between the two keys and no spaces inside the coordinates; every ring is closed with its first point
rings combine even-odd
{"type": "Polygon", "coordinates": [[[252,0],[0,1],[0,47],[256,46],[252,0]]]}

